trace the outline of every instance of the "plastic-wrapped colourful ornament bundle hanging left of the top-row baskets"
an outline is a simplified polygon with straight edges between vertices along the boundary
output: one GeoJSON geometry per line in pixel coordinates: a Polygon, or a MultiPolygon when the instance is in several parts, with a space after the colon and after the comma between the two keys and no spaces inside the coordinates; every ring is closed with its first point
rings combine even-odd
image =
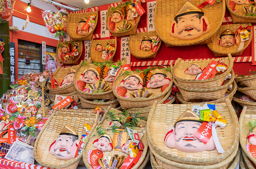
{"type": "Polygon", "coordinates": [[[67,32],[68,12],[65,9],[60,11],[43,11],[42,17],[48,29],[46,34],[49,36],[58,37],[67,32]]]}

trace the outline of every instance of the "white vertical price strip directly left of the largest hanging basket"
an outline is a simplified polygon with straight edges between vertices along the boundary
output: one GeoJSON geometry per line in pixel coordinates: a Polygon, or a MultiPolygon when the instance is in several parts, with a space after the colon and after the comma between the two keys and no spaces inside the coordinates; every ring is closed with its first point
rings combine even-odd
{"type": "Polygon", "coordinates": [[[156,1],[147,2],[147,28],[148,31],[155,31],[154,26],[154,11],[156,7],[156,1]]]}

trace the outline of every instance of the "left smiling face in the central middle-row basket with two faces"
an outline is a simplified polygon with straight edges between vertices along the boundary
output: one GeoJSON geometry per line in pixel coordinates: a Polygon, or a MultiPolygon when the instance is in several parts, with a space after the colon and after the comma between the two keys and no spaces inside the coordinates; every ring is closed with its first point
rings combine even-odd
{"type": "Polygon", "coordinates": [[[140,75],[131,73],[121,81],[120,86],[128,90],[140,90],[143,87],[142,82],[143,80],[140,75]]]}

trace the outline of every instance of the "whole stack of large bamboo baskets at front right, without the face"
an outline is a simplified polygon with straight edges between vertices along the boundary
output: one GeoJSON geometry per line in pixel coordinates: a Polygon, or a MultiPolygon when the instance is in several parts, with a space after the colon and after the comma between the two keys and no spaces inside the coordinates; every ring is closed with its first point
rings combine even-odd
{"type": "Polygon", "coordinates": [[[151,165],[154,169],[234,169],[240,158],[239,126],[236,112],[229,99],[217,103],[216,109],[227,118],[225,128],[216,128],[218,139],[224,149],[220,154],[216,149],[197,153],[185,153],[176,148],[169,148],[164,143],[164,136],[176,119],[193,104],[157,104],[151,107],[147,121],[148,146],[151,165]]]}

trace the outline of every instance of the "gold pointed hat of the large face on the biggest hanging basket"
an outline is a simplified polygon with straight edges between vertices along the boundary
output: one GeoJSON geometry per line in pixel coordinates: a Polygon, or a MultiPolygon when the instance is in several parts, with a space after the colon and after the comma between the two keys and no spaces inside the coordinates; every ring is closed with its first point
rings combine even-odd
{"type": "Polygon", "coordinates": [[[185,15],[187,12],[193,12],[193,13],[201,13],[204,12],[202,9],[198,8],[195,4],[193,4],[191,1],[187,0],[185,4],[181,7],[180,11],[176,13],[176,17],[180,17],[185,15]]]}

